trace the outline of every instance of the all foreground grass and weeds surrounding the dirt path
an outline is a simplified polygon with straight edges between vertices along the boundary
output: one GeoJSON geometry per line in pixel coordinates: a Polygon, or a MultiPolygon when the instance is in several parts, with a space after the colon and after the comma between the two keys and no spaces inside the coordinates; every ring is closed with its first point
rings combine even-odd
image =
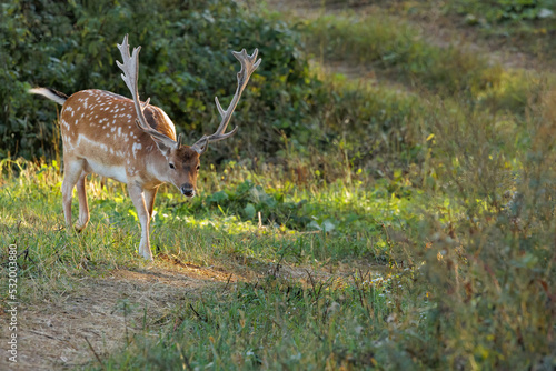
{"type": "MultiPolygon", "coordinates": [[[[438,120],[449,117],[437,109],[438,120]]],[[[166,189],[152,223],[157,252],[251,278],[207,287],[200,297],[172,302],[162,318],[130,324],[135,334],[121,350],[102,357],[100,369],[443,369],[553,362],[547,338],[553,314],[543,304],[549,300],[545,287],[554,280],[548,249],[553,201],[546,192],[540,198],[532,193],[536,188],[530,186],[552,177],[552,162],[532,158],[506,169],[504,163],[523,151],[512,148],[490,160],[492,169],[479,170],[480,157],[464,161],[460,151],[471,149],[470,143],[489,159],[509,134],[480,124],[488,114],[465,112],[453,123],[438,122],[445,130],[438,127],[428,141],[436,147],[429,163],[436,174],[424,188],[406,183],[403,176],[300,187],[280,180],[278,172],[261,178],[230,164],[207,172],[205,192],[193,202],[183,203],[166,189]],[[484,132],[477,132],[480,128],[484,132]],[[458,138],[469,141],[454,142],[458,138]],[[454,157],[461,160],[445,161],[454,157]],[[518,171],[520,182],[499,183],[508,171],[518,171]],[[481,182],[471,174],[487,178],[481,182]],[[272,188],[255,186],[261,179],[272,188]],[[524,194],[520,210],[500,204],[513,187],[524,194]],[[248,205],[265,214],[264,229],[248,205]],[[515,227],[508,209],[529,224],[515,227]],[[282,277],[285,267],[300,275],[282,277]],[[532,280],[538,283],[532,287],[532,280]],[[527,314],[520,313],[524,308],[527,314]]],[[[536,142],[536,133],[550,126],[530,122],[529,128],[535,130],[529,141],[536,142]]],[[[4,172],[0,215],[2,243],[29,249],[20,258],[22,302],[56,300],[79,292],[83,277],[145,264],[135,252],[139,228],[122,187],[108,182],[101,190],[92,180],[90,225],[80,234],[67,233],[60,230],[57,167],[18,164],[18,177],[4,172]]],[[[89,367],[98,369],[99,361],[89,367]]]]}

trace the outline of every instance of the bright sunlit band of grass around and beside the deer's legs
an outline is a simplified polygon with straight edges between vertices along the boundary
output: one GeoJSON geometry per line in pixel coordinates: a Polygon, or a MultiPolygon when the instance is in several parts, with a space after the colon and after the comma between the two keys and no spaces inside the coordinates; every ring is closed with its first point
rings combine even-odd
{"type": "MultiPolygon", "coordinates": [[[[415,201],[381,186],[369,188],[356,181],[318,189],[271,189],[238,178],[192,202],[183,202],[171,188],[160,192],[151,223],[155,252],[200,265],[224,262],[229,255],[264,265],[281,259],[324,264],[366,255],[384,262],[390,259],[387,228],[405,229],[411,223],[415,201]]],[[[77,270],[83,259],[89,267],[107,268],[139,262],[135,253],[139,227],[125,188],[110,181],[102,188],[99,179],[91,178],[90,223],[81,233],[67,233],[60,180],[56,164],[29,163],[2,186],[3,241],[29,247],[31,257],[70,262],[77,270]],[[22,229],[32,233],[22,237],[22,229]]],[[[76,199],[72,211],[78,213],[76,199]]]]}

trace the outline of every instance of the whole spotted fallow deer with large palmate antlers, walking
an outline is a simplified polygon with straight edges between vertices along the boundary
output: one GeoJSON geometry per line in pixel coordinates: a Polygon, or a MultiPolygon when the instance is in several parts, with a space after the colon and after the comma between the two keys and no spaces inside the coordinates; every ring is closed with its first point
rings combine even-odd
{"type": "Polygon", "coordinates": [[[67,97],[48,88],[34,88],[29,92],[44,96],[62,104],[60,127],[63,142],[62,203],[66,224],[71,227],[71,198],[77,184],[79,219],[77,230],[89,222],[86,194],[86,177],[93,172],[128,184],[129,195],[141,223],[139,253],[152,260],[149,241],[149,224],[152,217],[158,187],[165,182],[176,186],[183,195],[196,193],[199,157],[208,144],[234,136],[237,127],[228,133],[226,128],[251,73],[259,67],[258,50],[251,56],[241,50],[232,52],[241,63],[237,74],[238,86],[228,107],[224,110],[215,99],[221,122],[211,136],[203,136],[192,146],[181,144],[181,134],[176,138],[176,128],[160,108],[141,102],[137,89],[139,74],[138,53],[141,47],[129,54],[128,37],[118,44],[123,71],[132,99],[102,90],[82,90],[67,97]]]}

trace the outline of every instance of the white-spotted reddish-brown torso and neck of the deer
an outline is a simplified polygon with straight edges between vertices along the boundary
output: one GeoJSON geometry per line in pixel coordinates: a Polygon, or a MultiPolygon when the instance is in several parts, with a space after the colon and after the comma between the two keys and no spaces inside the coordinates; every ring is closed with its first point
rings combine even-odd
{"type": "MultiPolygon", "coordinates": [[[[152,129],[176,140],[176,128],[165,111],[149,104],[145,117],[152,129]]],[[[147,171],[149,158],[160,156],[136,119],[133,101],[126,97],[103,90],[72,94],[60,117],[64,157],[85,159],[88,171],[127,182],[127,176],[147,171]]]]}

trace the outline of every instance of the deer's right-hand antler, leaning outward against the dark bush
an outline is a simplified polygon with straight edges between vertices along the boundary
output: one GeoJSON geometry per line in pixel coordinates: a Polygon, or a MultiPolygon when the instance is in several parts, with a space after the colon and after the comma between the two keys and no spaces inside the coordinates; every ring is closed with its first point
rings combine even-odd
{"type": "Polygon", "coordinates": [[[199,154],[203,153],[207,150],[209,143],[229,138],[234,136],[238,130],[238,127],[236,127],[230,132],[226,134],[224,133],[226,131],[226,128],[228,127],[228,123],[230,122],[231,114],[234,113],[234,110],[238,104],[239,98],[241,97],[241,93],[244,92],[244,89],[247,86],[249,78],[251,77],[251,73],[259,67],[261,62],[261,59],[257,60],[258,52],[258,49],[255,49],[251,56],[248,56],[245,49],[242,49],[240,52],[231,52],[234,57],[236,57],[237,60],[239,60],[239,62],[241,63],[241,70],[238,72],[238,87],[227,110],[222,109],[220,102],[218,101],[218,97],[215,97],[216,107],[222,120],[220,121],[220,126],[214,134],[202,136],[201,139],[199,139],[193,146],[191,146],[191,148],[199,154]]]}

